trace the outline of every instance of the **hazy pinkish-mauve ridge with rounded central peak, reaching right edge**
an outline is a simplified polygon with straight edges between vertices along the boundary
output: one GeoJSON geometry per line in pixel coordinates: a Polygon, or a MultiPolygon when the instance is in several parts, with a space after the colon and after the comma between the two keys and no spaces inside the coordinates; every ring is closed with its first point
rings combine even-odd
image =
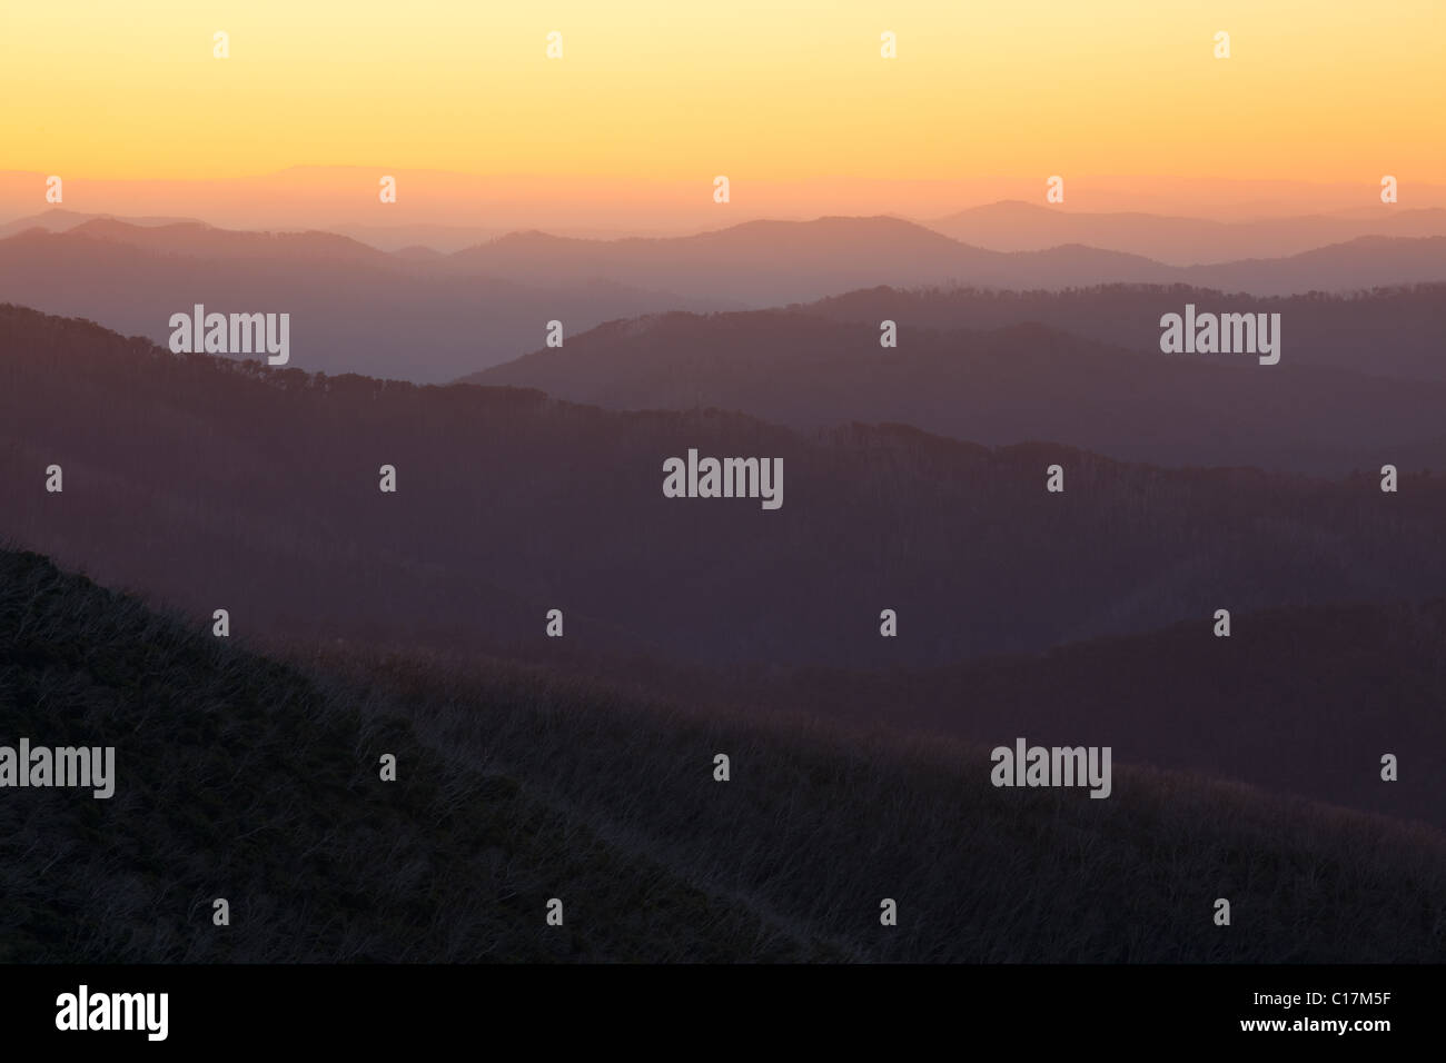
{"type": "Polygon", "coordinates": [[[888,217],[818,218],[753,221],[714,233],[652,240],[568,240],[516,233],[457,252],[448,262],[513,281],[606,278],[755,307],[875,285],[1030,289],[1113,281],[1280,295],[1446,281],[1446,236],[1359,237],[1288,257],[1181,268],[1077,243],[992,252],[888,217]]]}

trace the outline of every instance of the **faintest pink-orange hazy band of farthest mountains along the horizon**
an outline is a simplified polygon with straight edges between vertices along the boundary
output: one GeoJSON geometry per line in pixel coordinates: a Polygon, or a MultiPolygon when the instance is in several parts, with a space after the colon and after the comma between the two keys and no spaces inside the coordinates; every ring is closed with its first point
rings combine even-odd
{"type": "MultiPolygon", "coordinates": [[[[1181,166],[1190,171],[1186,161],[1181,166]]],[[[1379,175],[1359,181],[1220,179],[1218,176],[1087,176],[1067,175],[1069,202],[1044,204],[1043,175],[1014,178],[878,179],[831,175],[768,181],[735,175],[733,202],[713,202],[711,174],[681,179],[646,179],[638,175],[577,174],[447,174],[388,168],[399,188],[398,202],[377,202],[375,166],[291,166],[272,174],[239,178],[146,181],[67,179],[67,210],[124,215],[181,215],[204,218],[233,229],[328,229],[359,236],[356,229],[412,229],[429,231],[438,250],[454,250],[454,233],[493,234],[542,229],[562,236],[681,236],[704,229],[756,221],[798,220],[818,215],[889,214],[921,224],[967,210],[989,211],[996,204],[1024,202],[1054,214],[1147,214],[1163,218],[1189,215],[1257,224],[1271,218],[1375,220],[1394,213],[1446,207],[1446,185],[1424,174],[1403,176],[1401,202],[1379,201],[1379,175]]],[[[0,169],[0,217],[32,214],[46,188],[46,171],[0,169]]],[[[1408,234],[1369,230],[1382,236],[1408,234]]],[[[1427,233],[1417,233],[1427,236],[1427,233]]],[[[386,234],[377,246],[388,250],[409,243],[429,243],[415,236],[393,243],[386,234]]],[[[1325,234],[1313,246],[1343,236],[1325,234]]],[[[476,243],[476,237],[473,239],[476,243]]],[[[966,243],[969,240],[966,239],[966,243]]],[[[1070,239],[1053,240],[1069,243],[1070,239]]],[[[992,246],[992,244],[985,244],[992,246]]],[[[1017,250],[1017,247],[995,247],[1017,250]]],[[[1022,250],[1028,250],[1024,247],[1022,250]]],[[[1124,249],[1129,250],[1129,249],[1124,249]]],[[[1178,250],[1174,249],[1174,250],[1178,250]]],[[[1242,246],[1225,257],[1283,255],[1291,249],[1242,246]]],[[[1294,250],[1303,250],[1300,247],[1294,250]]],[[[1139,252],[1148,255],[1148,252],[1139,252]]],[[[1173,260],[1173,259],[1171,259],[1173,260]]]]}

